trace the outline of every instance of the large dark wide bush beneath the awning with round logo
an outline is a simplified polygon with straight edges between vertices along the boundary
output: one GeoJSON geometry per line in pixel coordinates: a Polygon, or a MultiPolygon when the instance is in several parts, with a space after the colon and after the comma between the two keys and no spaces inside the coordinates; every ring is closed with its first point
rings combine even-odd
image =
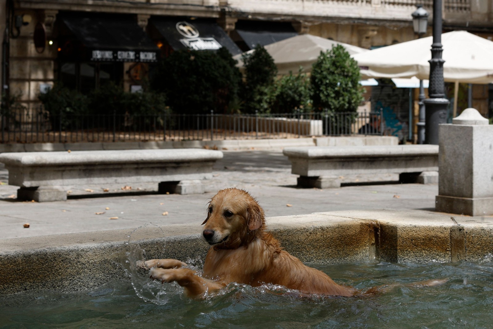
{"type": "Polygon", "coordinates": [[[177,113],[231,112],[238,103],[241,73],[227,49],[174,51],[151,79],[151,89],[163,92],[177,113]]]}

